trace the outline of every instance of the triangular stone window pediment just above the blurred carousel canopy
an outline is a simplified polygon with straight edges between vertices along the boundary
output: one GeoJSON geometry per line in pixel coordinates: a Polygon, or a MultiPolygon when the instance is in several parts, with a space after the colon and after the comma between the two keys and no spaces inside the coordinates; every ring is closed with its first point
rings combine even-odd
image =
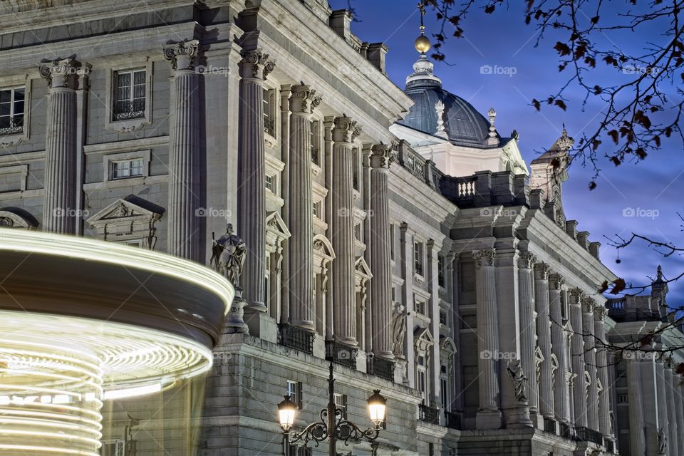
{"type": "Polygon", "coordinates": [[[117,199],[87,222],[103,241],[154,249],[157,242],[155,224],[163,213],[164,209],[157,204],[129,195],[117,199]]]}

